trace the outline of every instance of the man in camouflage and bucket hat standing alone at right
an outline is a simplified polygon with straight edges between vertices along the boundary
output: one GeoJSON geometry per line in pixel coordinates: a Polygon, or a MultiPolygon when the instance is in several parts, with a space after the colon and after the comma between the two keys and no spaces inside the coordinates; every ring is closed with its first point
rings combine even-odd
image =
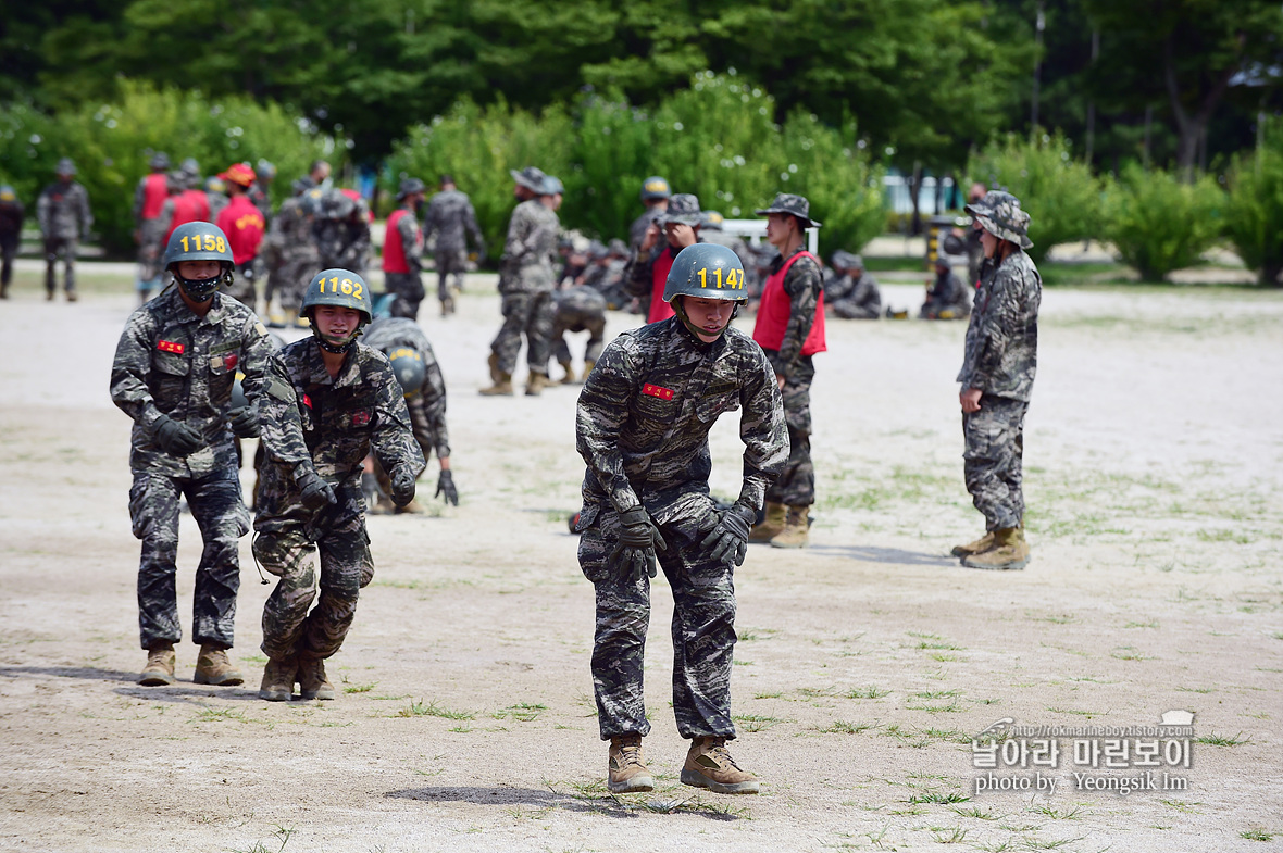
{"type": "Polygon", "coordinates": [[[953,554],[971,568],[1024,568],[1025,499],[1021,459],[1025,412],[1038,367],[1042,277],[1025,249],[1029,214],[1010,192],[990,191],[966,207],[980,230],[984,266],[958,382],[966,487],[984,513],[985,535],[953,554]]]}

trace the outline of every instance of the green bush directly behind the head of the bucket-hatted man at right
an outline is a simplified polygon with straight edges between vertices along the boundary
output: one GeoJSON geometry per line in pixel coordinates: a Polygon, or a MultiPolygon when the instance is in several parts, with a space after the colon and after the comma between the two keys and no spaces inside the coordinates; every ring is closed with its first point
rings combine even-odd
{"type": "Polygon", "coordinates": [[[1100,237],[1101,185],[1060,133],[1034,142],[1007,136],[973,158],[967,171],[973,181],[1020,199],[1030,217],[1035,262],[1057,242],[1100,237]]]}

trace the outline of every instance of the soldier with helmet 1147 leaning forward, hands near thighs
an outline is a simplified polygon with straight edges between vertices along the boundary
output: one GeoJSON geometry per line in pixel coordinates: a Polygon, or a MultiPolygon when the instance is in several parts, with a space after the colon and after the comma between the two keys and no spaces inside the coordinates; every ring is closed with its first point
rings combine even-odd
{"type": "Polygon", "coordinates": [[[788,458],[788,434],[770,363],[730,327],[743,287],[730,249],[683,250],[663,294],[675,316],[611,341],[579,396],[577,446],[588,463],[579,563],[597,594],[593,688],[602,740],[611,741],[612,793],[653,786],[642,758],[650,731],[642,667],[657,559],[675,608],[672,708],[677,731],[692,739],[681,781],[725,794],[758,790],[726,750],[735,738],[733,576],[788,458]],[[718,513],[708,494],[708,431],[739,408],[743,486],[718,513]]]}

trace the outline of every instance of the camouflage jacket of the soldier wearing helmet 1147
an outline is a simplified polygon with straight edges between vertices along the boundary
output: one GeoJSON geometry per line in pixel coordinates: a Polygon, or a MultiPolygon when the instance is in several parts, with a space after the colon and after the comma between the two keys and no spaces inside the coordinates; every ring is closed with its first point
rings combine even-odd
{"type": "Polygon", "coordinates": [[[576,408],[577,448],[588,463],[582,523],[609,505],[622,512],[642,504],[658,523],[709,507],[708,431],[742,407],[739,500],[756,511],[789,457],[780,391],[762,349],[735,328],[703,344],[675,317],[616,337],[576,408]]]}

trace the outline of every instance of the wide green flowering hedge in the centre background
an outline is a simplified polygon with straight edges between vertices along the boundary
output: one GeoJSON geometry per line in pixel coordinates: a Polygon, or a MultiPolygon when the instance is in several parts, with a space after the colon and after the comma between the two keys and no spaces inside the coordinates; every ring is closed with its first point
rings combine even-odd
{"type": "Polygon", "coordinates": [[[390,160],[387,189],[403,176],[431,182],[449,172],[472,196],[486,240],[500,245],[512,209],[508,169],[534,164],[561,177],[562,222],[604,239],[627,235],[642,212],[642,181],[662,174],[727,218],[752,217],[776,192],[799,192],[824,223],[826,250],[858,250],[885,214],[881,173],[860,149],[853,123],[837,131],[794,112],[776,126],[774,114],[761,89],[711,73],[653,114],[617,94],[589,94],[570,112],[553,108],[539,118],[503,101],[485,109],[463,101],[411,132],[390,160]]]}

